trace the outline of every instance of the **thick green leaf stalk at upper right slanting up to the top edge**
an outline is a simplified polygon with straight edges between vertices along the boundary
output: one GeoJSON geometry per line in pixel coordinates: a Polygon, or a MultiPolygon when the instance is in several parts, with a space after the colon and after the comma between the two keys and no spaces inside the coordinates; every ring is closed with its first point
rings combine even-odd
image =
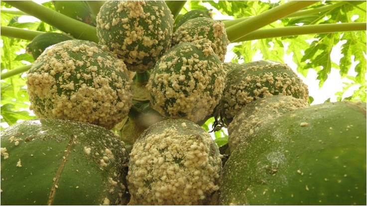
{"type": "Polygon", "coordinates": [[[263,26],[266,26],[278,19],[294,13],[308,5],[318,1],[289,1],[282,5],[271,8],[257,16],[245,19],[244,21],[227,28],[228,39],[233,42],[263,26]]]}

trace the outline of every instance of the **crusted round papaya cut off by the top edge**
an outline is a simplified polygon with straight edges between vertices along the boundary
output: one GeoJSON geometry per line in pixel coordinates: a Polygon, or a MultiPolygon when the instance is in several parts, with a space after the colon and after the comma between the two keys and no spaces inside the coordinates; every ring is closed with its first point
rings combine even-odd
{"type": "Polygon", "coordinates": [[[152,69],[171,46],[173,16],[164,1],[106,1],[97,15],[97,36],[127,69],[152,69]]]}

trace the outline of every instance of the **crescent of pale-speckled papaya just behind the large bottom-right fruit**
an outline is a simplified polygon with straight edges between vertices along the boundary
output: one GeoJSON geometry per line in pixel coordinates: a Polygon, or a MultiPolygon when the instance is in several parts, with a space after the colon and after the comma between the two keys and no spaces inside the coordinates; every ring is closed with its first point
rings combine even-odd
{"type": "Polygon", "coordinates": [[[307,106],[304,99],[283,95],[264,97],[246,104],[228,126],[230,150],[233,151],[242,142],[250,142],[251,137],[267,122],[307,106]]]}

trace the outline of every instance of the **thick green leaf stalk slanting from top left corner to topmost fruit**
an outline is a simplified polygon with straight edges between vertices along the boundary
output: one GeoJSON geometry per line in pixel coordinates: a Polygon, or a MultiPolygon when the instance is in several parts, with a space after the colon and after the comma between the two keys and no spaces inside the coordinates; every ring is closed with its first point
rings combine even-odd
{"type": "Polygon", "coordinates": [[[89,24],[70,18],[30,0],[4,0],[7,4],[44,21],[73,37],[98,43],[97,30],[89,24]]]}

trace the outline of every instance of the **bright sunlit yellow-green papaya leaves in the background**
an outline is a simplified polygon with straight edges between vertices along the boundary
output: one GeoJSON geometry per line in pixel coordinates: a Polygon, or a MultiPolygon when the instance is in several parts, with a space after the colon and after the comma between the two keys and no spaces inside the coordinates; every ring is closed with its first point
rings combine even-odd
{"type": "MultiPolygon", "coordinates": [[[[328,4],[334,4],[337,1],[325,1],[316,3],[312,8],[322,7],[328,4]]],[[[270,1],[188,1],[181,10],[181,14],[191,9],[207,9],[205,5],[211,5],[223,15],[233,18],[242,18],[257,15],[274,6],[283,3],[270,1]]],[[[333,9],[323,11],[307,16],[298,16],[293,18],[283,18],[264,28],[325,24],[339,22],[365,22],[366,21],[366,1],[343,1],[333,9]],[[357,18],[358,17],[358,18],[357,18]]],[[[51,2],[43,5],[54,9],[51,2]]],[[[9,7],[1,2],[1,7],[9,7]]],[[[24,22],[21,17],[14,14],[1,13],[1,25],[17,28],[26,28],[44,32],[60,32],[56,28],[39,21],[24,22]]],[[[30,64],[34,60],[31,55],[25,53],[25,46],[29,43],[26,40],[7,38],[1,36],[1,73],[18,68],[24,64],[30,64]]],[[[293,61],[298,65],[297,71],[303,76],[307,76],[310,69],[317,71],[319,86],[328,79],[331,68],[339,69],[342,77],[350,79],[350,83],[343,86],[343,90],[336,93],[338,100],[342,100],[344,92],[352,86],[358,86],[352,96],[347,99],[353,101],[366,102],[366,32],[345,32],[316,35],[300,35],[294,37],[279,37],[271,39],[260,39],[246,41],[238,44],[232,50],[236,56],[233,62],[250,62],[257,51],[260,51],[263,59],[276,62],[284,62],[284,55],[293,55],[293,61]],[[311,40],[308,42],[308,40],[311,40]],[[337,65],[331,61],[333,47],[342,43],[341,53],[343,57],[340,64],[337,65]],[[352,64],[357,64],[355,68],[352,64]],[[357,73],[356,76],[350,75],[357,73]]],[[[326,94],[328,95],[328,94],[326,94]]],[[[329,94],[332,95],[332,94],[329,94]]],[[[310,98],[312,102],[312,97],[310,98]]],[[[28,95],[25,86],[25,74],[15,75],[11,78],[1,80],[1,130],[3,127],[12,125],[19,120],[34,119],[35,116],[28,109],[28,95]]],[[[209,119],[203,127],[211,130],[210,125],[213,118],[209,119]]],[[[221,130],[214,133],[219,145],[227,142],[226,133],[221,130]]]]}

